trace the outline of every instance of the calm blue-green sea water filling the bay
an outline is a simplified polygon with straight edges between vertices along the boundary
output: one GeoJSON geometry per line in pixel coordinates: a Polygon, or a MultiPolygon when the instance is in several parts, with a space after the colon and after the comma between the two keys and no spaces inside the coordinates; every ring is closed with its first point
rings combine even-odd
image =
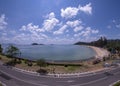
{"type": "MultiPolygon", "coordinates": [[[[5,50],[9,44],[2,44],[5,50]]],[[[19,58],[29,60],[45,59],[48,61],[78,61],[86,60],[95,56],[92,48],[82,45],[17,45],[21,54],[19,58]]]]}

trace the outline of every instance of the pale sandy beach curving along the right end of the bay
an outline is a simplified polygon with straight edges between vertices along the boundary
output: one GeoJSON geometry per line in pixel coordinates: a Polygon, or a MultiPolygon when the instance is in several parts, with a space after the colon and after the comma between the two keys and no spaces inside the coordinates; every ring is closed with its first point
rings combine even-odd
{"type": "Polygon", "coordinates": [[[96,52],[96,56],[95,56],[96,58],[102,59],[103,57],[106,57],[109,55],[109,51],[107,51],[106,49],[98,48],[95,46],[89,46],[89,47],[96,52]]]}

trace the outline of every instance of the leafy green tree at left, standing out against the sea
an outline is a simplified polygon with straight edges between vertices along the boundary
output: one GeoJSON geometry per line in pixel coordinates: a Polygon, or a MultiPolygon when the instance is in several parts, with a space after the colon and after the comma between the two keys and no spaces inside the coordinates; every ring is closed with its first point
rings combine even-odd
{"type": "Polygon", "coordinates": [[[6,49],[6,54],[10,57],[15,57],[17,54],[20,54],[20,50],[17,47],[10,45],[6,49]]]}

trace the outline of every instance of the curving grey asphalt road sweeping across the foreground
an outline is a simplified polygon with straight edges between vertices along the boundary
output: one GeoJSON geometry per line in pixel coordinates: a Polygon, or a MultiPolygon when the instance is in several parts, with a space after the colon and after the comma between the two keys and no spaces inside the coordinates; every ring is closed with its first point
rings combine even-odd
{"type": "Polygon", "coordinates": [[[43,77],[25,74],[0,64],[0,81],[7,86],[109,86],[120,80],[120,67],[84,77],[43,77]]]}

